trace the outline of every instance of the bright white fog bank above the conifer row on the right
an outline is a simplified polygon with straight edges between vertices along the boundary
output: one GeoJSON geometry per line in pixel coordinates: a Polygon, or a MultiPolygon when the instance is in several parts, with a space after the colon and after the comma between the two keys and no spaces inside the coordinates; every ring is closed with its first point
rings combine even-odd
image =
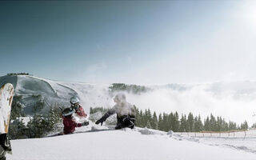
{"type": "Polygon", "coordinates": [[[142,110],[150,108],[158,113],[178,111],[180,115],[192,112],[201,114],[202,118],[212,113],[238,124],[247,120],[251,125],[256,112],[254,89],[255,86],[246,82],[225,82],[187,87],[186,90],[162,88],[146,94],[127,94],[127,100],[142,110]]]}

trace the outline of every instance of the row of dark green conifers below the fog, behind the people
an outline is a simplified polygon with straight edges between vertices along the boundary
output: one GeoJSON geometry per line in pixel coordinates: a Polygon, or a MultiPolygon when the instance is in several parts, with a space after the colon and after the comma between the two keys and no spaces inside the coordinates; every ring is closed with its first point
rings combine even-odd
{"type": "MultiPolygon", "coordinates": [[[[200,115],[194,115],[189,113],[188,115],[178,112],[171,112],[169,114],[161,113],[156,114],[150,109],[138,110],[135,108],[136,126],[147,127],[154,130],[174,132],[201,132],[201,131],[230,131],[230,130],[247,130],[249,128],[248,123],[245,121],[238,125],[236,122],[226,122],[225,118],[215,117],[213,114],[207,116],[202,120],[200,115]]],[[[96,112],[106,113],[107,109],[103,107],[90,108],[90,114],[96,112]]]]}

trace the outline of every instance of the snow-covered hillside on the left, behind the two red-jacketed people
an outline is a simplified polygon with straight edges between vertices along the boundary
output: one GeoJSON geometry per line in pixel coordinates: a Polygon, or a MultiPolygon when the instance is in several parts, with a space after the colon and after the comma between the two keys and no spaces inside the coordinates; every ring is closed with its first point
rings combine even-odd
{"type": "MultiPolygon", "coordinates": [[[[47,107],[55,103],[70,106],[70,97],[78,96],[88,112],[90,106],[111,106],[108,94],[109,85],[93,85],[79,82],[58,82],[30,75],[0,77],[0,84],[10,82],[14,85],[15,95],[22,96],[26,114],[32,114],[37,102],[45,102],[47,107]]],[[[112,102],[113,103],[113,102],[112,102]]]]}

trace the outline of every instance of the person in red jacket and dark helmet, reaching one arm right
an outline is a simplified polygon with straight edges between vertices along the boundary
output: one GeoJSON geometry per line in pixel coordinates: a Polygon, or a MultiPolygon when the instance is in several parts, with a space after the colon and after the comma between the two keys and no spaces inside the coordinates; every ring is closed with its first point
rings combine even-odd
{"type": "Polygon", "coordinates": [[[75,127],[87,126],[89,122],[78,123],[74,120],[74,109],[66,108],[62,111],[63,118],[63,134],[73,134],[75,127]]]}

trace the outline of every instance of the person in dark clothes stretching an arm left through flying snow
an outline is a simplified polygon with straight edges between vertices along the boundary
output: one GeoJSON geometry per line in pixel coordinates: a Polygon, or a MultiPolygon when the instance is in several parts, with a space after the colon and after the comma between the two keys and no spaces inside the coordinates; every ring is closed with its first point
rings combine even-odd
{"type": "Polygon", "coordinates": [[[114,97],[114,102],[116,104],[113,106],[112,109],[108,110],[106,114],[102,116],[102,118],[98,119],[95,124],[99,124],[106,121],[106,118],[110,117],[112,114],[117,114],[117,126],[115,129],[122,129],[125,127],[129,127],[130,129],[134,128],[135,122],[135,109],[129,102],[126,102],[126,95],[125,94],[117,94],[114,97]]]}

